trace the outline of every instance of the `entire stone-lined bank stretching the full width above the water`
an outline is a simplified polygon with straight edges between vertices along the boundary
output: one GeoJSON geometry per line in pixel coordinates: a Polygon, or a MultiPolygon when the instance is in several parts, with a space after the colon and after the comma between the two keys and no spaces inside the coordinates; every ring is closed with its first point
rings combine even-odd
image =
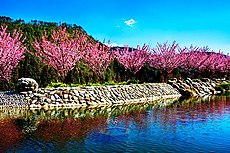
{"type": "MultiPolygon", "coordinates": [[[[148,83],[131,85],[79,86],[37,88],[36,81],[27,82],[23,92],[0,92],[0,108],[78,108],[109,105],[129,105],[150,103],[161,99],[183,97],[202,97],[220,93],[218,86],[230,81],[186,79],[169,80],[166,83],[148,83]],[[36,88],[33,85],[36,85],[36,88]],[[30,88],[26,88],[26,87],[30,88]]],[[[21,84],[23,86],[23,84],[21,84]]],[[[221,86],[222,87],[222,86],[221,86]]],[[[227,86],[228,87],[228,86],[227,86]]],[[[220,88],[222,89],[222,88],[220,88]]]]}

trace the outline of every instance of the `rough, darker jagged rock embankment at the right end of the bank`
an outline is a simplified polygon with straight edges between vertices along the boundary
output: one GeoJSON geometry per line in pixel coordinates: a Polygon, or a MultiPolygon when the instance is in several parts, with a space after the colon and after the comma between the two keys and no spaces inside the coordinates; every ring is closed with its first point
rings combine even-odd
{"type": "Polygon", "coordinates": [[[172,85],[177,89],[182,96],[192,97],[192,96],[204,96],[220,93],[221,91],[216,90],[216,85],[230,83],[230,81],[225,79],[190,79],[177,80],[176,78],[168,81],[168,84],[172,85]]]}

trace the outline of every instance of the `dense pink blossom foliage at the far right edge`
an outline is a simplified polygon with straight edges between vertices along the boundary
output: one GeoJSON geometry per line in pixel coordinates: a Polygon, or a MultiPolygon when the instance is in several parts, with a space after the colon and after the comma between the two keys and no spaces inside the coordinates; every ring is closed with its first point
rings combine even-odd
{"type": "Polygon", "coordinates": [[[184,48],[181,57],[184,59],[181,68],[190,75],[206,74],[208,76],[219,77],[224,76],[229,71],[229,56],[222,53],[209,52],[208,47],[193,47],[184,48]],[[219,75],[219,76],[218,76],[219,75]]]}

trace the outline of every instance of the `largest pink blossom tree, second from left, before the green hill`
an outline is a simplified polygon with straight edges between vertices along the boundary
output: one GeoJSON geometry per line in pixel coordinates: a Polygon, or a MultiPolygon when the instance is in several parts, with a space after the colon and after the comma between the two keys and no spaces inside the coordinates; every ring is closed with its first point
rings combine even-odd
{"type": "Polygon", "coordinates": [[[51,37],[47,36],[46,31],[44,33],[41,40],[36,39],[31,44],[35,52],[29,53],[53,67],[64,81],[68,72],[81,59],[82,51],[87,46],[87,37],[78,31],[69,34],[62,26],[59,26],[58,31],[53,30],[51,37]]]}

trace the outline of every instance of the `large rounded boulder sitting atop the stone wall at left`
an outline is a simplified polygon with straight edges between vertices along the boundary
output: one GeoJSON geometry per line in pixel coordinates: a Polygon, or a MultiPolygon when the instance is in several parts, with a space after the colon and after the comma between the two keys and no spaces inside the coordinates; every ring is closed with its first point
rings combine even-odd
{"type": "Polygon", "coordinates": [[[35,91],[38,89],[38,83],[32,78],[20,78],[17,81],[17,89],[22,91],[35,91]]]}

